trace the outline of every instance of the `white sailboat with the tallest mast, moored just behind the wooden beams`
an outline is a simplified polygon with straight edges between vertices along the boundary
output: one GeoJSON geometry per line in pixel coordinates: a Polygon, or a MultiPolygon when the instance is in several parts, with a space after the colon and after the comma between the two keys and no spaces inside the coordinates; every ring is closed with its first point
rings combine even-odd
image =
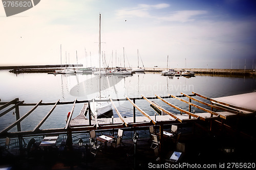
{"type": "Polygon", "coordinates": [[[99,14],[99,97],[96,99],[93,99],[93,102],[91,103],[92,105],[92,112],[94,117],[111,117],[113,115],[113,110],[112,110],[112,103],[111,102],[100,102],[100,100],[106,100],[105,97],[101,96],[101,91],[100,91],[100,75],[101,75],[101,70],[100,70],[100,19],[101,19],[101,14],[99,14]],[[95,101],[97,100],[97,101],[95,101]]]}

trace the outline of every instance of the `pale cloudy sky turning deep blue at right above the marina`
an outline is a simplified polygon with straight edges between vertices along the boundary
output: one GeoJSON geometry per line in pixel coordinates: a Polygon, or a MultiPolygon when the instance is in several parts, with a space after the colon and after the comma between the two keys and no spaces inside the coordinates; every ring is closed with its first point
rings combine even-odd
{"type": "Polygon", "coordinates": [[[98,66],[99,14],[110,67],[137,67],[139,52],[145,67],[168,56],[169,68],[255,69],[254,0],[41,0],[9,17],[1,6],[0,65],[76,64],[77,52],[98,66]]]}

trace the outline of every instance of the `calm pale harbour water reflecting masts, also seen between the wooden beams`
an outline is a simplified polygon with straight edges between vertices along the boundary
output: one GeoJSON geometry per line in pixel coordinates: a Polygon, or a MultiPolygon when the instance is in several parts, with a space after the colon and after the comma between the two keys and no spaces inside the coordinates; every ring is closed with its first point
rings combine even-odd
{"type": "MultiPolygon", "coordinates": [[[[128,77],[105,76],[99,78],[94,75],[48,75],[48,74],[19,74],[14,75],[6,70],[0,70],[0,99],[2,102],[19,98],[25,103],[43,103],[91,100],[99,96],[111,96],[113,99],[140,97],[141,94],[151,97],[155,94],[160,96],[167,94],[180,95],[180,92],[191,94],[192,91],[201,93],[210,98],[252,92],[256,89],[254,77],[224,77],[196,75],[196,77],[163,77],[160,74],[146,73],[134,74],[128,77]]],[[[185,98],[184,98],[185,99],[185,98]]],[[[179,113],[168,105],[155,100],[165,109],[179,113]]],[[[176,100],[168,99],[169,102],[187,109],[187,105],[176,100]]],[[[133,106],[129,101],[115,102],[123,116],[132,115],[133,106]]],[[[148,114],[154,115],[154,110],[144,100],[137,100],[136,104],[148,114]]],[[[79,114],[82,104],[77,104],[74,115],[79,114]]],[[[20,115],[24,115],[33,107],[20,107],[20,115]]],[[[51,110],[52,106],[39,106],[30,116],[22,122],[22,130],[33,130],[51,110]]],[[[66,124],[66,116],[71,111],[72,105],[57,106],[41,129],[62,128],[66,124]]],[[[194,109],[194,108],[193,108],[194,109]]],[[[195,109],[196,112],[200,110],[195,109]]],[[[2,111],[1,111],[2,112],[2,111]]],[[[136,111],[137,115],[142,115],[136,111]]],[[[118,115],[114,112],[114,117],[118,115]]],[[[0,130],[15,122],[12,112],[1,117],[0,130]]],[[[15,131],[13,128],[11,131],[15,131]]]]}

